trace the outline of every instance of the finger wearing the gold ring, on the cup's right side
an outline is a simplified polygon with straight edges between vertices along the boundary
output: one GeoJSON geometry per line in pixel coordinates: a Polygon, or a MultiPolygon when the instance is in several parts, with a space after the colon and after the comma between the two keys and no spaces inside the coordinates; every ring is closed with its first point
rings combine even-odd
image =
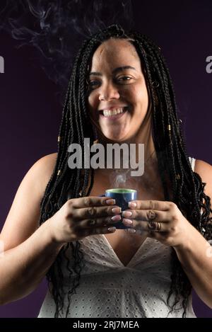
{"type": "Polygon", "coordinates": [[[130,227],[131,229],[140,229],[141,231],[157,231],[163,232],[168,231],[167,223],[166,222],[145,222],[145,221],[138,221],[134,219],[123,219],[124,226],[130,227]],[[132,222],[132,223],[130,223],[132,222]]]}

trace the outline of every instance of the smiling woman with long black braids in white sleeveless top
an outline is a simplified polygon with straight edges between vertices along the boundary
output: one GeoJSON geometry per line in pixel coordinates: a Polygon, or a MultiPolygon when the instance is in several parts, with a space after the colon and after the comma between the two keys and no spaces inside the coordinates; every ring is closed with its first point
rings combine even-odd
{"type": "Polygon", "coordinates": [[[58,153],[30,168],[1,233],[1,303],[47,274],[39,317],[194,317],[192,287],[212,308],[212,168],[187,156],[176,108],[160,48],[146,36],[112,25],[83,43],[58,153]],[[128,212],[100,197],[114,169],[69,168],[69,144],[83,147],[85,137],[144,144],[145,172],[126,181],[138,188],[128,212]],[[128,231],[112,227],[121,214],[128,231]]]}

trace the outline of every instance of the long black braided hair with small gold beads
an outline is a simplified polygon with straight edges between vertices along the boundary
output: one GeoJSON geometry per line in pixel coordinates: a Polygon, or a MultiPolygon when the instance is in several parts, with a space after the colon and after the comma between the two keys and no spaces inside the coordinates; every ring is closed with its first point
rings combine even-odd
{"type": "MultiPolygon", "coordinates": [[[[152,101],[152,130],[155,151],[158,158],[158,168],[165,200],[172,200],[179,207],[184,217],[204,235],[206,240],[212,238],[211,200],[204,193],[206,183],[202,183],[200,176],[192,171],[184,144],[181,127],[177,115],[175,92],[172,85],[165,59],[157,45],[146,35],[130,31],[124,33],[120,25],[111,25],[90,39],[83,42],[81,50],[76,56],[68,91],[64,102],[61,126],[59,130],[60,141],[58,144],[57,163],[52,177],[45,190],[41,202],[40,224],[52,217],[62,205],[71,198],[80,195],[88,196],[93,188],[93,168],[90,170],[74,169],[68,166],[68,147],[72,143],[81,144],[84,138],[95,140],[95,134],[88,117],[87,76],[91,66],[93,53],[98,46],[109,38],[125,38],[131,42],[141,59],[141,65],[145,74],[146,84],[150,90],[152,101]],[[152,82],[157,82],[156,86],[152,82]],[[83,172],[84,171],[84,172],[83,172]],[[91,173],[90,186],[88,188],[89,173],[91,173]],[[88,188],[88,191],[86,192],[88,188]],[[201,214],[201,207],[203,214],[201,214]]],[[[84,154],[83,154],[84,158],[84,154]]],[[[71,294],[76,293],[83,268],[83,253],[80,250],[80,242],[74,241],[66,244],[57,259],[47,273],[49,285],[52,285],[52,294],[56,304],[54,317],[61,316],[64,308],[64,298],[67,296],[68,306],[66,316],[69,314],[71,294]],[[71,248],[73,260],[68,256],[71,248]],[[62,265],[69,272],[69,285],[72,286],[68,293],[64,292],[64,274],[62,265]],[[71,265],[71,262],[73,264],[71,265]],[[73,272],[76,274],[73,277],[73,272]]],[[[187,305],[192,286],[184,273],[177,254],[172,249],[172,276],[170,292],[167,297],[169,305],[170,297],[175,296],[171,310],[182,299],[184,309],[183,317],[187,313],[187,305]]]]}

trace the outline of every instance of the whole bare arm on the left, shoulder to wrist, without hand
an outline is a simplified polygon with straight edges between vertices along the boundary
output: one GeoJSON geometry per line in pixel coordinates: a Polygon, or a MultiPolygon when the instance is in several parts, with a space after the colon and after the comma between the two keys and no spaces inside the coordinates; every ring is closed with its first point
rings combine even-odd
{"type": "Polygon", "coordinates": [[[40,201],[54,170],[57,154],[37,161],[23,178],[0,235],[0,303],[35,290],[59,253],[50,219],[41,227],[40,201]]]}

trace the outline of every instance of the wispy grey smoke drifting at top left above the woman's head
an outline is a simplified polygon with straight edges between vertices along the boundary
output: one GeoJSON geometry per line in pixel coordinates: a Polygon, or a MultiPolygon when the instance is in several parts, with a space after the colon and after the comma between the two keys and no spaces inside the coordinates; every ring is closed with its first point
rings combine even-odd
{"type": "Polygon", "coordinates": [[[62,90],[82,41],[113,23],[133,28],[131,0],[7,0],[0,11],[0,32],[18,40],[18,47],[36,47],[42,69],[62,90]]]}

